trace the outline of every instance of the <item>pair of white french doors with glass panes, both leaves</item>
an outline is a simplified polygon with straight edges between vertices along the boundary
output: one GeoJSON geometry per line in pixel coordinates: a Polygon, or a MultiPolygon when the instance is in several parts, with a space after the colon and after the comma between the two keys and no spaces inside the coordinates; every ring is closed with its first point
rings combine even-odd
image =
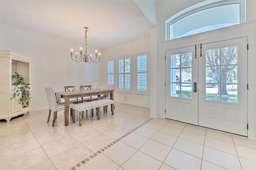
{"type": "Polygon", "coordinates": [[[166,51],[166,118],[247,136],[247,38],[166,51]]]}

